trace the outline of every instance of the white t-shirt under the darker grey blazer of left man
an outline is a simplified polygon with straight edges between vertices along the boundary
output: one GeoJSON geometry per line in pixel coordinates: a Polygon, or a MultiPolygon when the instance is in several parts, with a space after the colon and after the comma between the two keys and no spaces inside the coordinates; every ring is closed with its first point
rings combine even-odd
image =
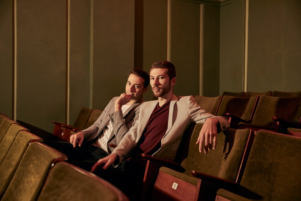
{"type": "MultiPolygon", "coordinates": [[[[123,113],[123,116],[126,112],[126,110],[130,107],[130,105],[123,105],[121,106],[121,110],[123,113]]],[[[109,140],[109,137],[113,131],[113,126],[111,121],[108,122],[107,126],[104,127],[104,129],[99,134],[98,138],[92,142],[92,145],[102,148],[105,152],[108,153],[108,147],[107,143],[109,140]]]]}

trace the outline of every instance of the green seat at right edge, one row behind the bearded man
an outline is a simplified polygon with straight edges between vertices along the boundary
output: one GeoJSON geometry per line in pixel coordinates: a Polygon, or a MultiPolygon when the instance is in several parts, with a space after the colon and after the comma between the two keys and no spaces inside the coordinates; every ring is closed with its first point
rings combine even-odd
{"type": "Polygon", "coordinates": [[[239,123],[238,128],[260,129],[286,133],[288,127],[298,128],[301,97],[261,96],[251,123],[239,123]],[[272,117],[275,120],[272,119],[272,117]]]}

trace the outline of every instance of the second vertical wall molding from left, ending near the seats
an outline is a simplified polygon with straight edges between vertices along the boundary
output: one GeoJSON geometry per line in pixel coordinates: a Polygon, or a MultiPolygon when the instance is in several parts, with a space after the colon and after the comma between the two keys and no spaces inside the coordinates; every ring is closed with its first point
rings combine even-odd
{"type": "Polygon", "coordinates": [[[70,0],[67,0],[67,40],[66,40],[66,123],[70,121],[70,0]]]}

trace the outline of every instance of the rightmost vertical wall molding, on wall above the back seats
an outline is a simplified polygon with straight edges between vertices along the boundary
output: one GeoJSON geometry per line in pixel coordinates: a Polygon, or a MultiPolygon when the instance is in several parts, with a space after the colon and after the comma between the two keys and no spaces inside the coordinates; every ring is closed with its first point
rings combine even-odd
{"type": "Polygon", "coordinates": [[[245,57],[244,57],[244,75],[243,75],[243,90],[247,91],[247,74],[248,74],[248,27],[249,27],[249,0],[246,0],[245,11],[245,57]]]}

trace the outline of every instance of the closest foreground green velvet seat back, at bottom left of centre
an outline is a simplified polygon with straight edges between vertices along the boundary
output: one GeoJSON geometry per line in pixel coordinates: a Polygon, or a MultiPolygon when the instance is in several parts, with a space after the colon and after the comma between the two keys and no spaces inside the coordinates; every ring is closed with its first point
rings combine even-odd
{"type": "Polygon", "coordinates": [[[51,170],[38,201],[103,200],[127,201],[116,187],[100,177],[67,162],[51,170]]]}

